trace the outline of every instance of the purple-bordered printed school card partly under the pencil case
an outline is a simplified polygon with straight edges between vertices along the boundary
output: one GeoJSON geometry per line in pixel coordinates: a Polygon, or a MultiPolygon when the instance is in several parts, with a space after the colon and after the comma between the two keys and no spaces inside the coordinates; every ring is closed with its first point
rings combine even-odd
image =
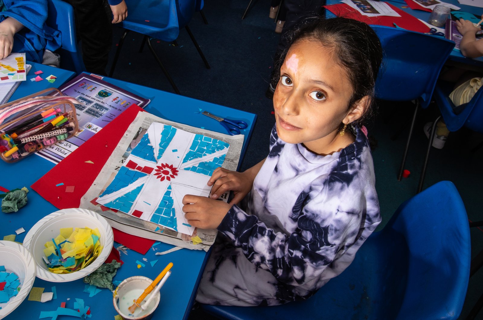
{"type": "Polygon", "coordinates": [[[138,105],[144,108],[150,102],[149,99],[84,73],[61,86],[59,90],[79,101],[75,106],[79,132],[37,152],[39,156],[54,163],[71,154],[129,106],[138,105]]]}

